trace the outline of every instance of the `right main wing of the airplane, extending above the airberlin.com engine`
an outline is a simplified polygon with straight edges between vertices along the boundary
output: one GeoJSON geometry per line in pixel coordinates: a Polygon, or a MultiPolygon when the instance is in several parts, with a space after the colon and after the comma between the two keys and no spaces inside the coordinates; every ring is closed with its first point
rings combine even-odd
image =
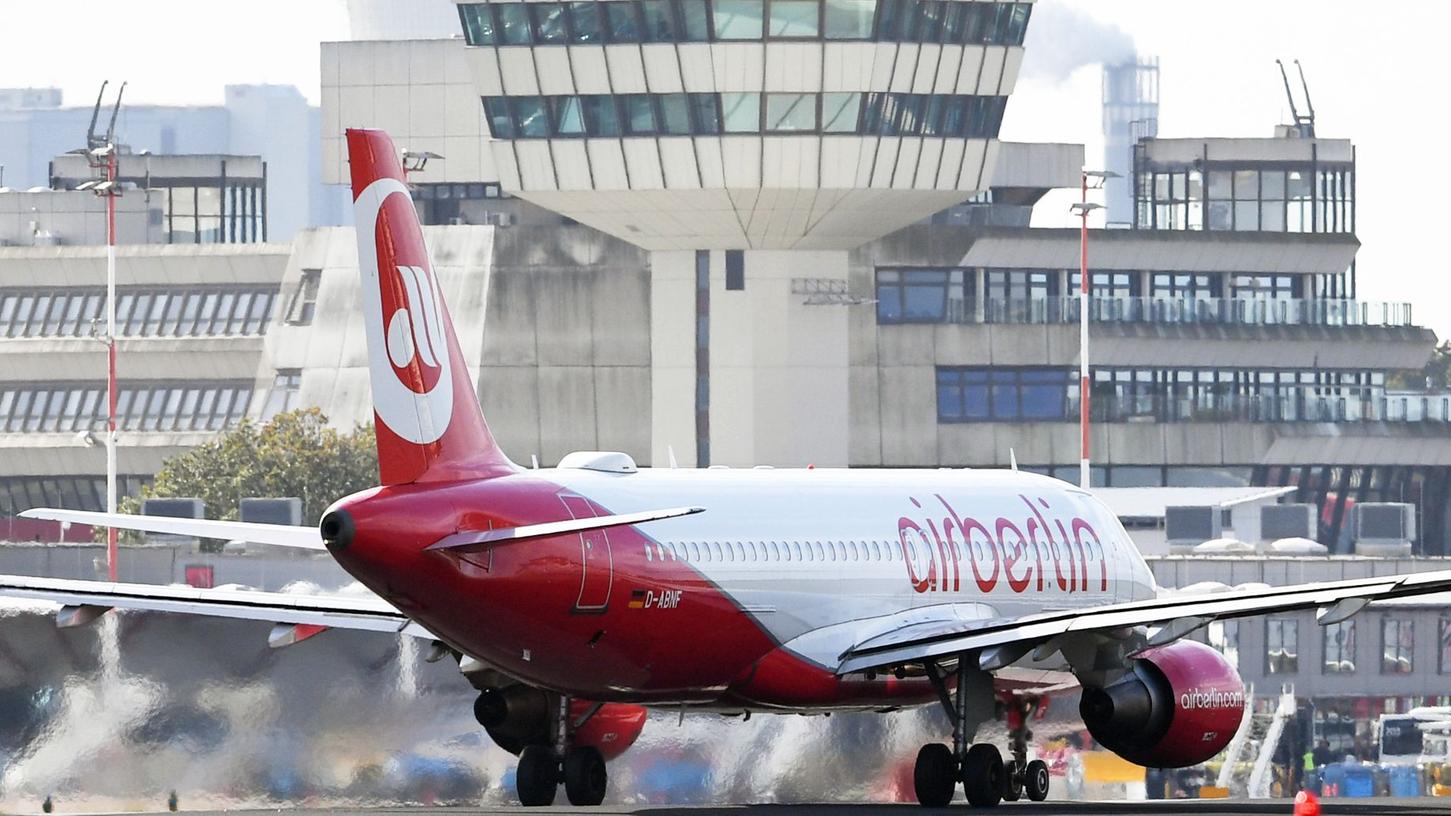
{"type": "MultiPolygon", "coordinates": [[[[905,623],[868,637],[840,655],[837,674],[920,664],[948,655],[978,652],[984,669],[1001,669],[1032,649],[1074,633],[1110,633],[1162,624],[1149,646],[1170,643],[1213,620],[1316,608],[1322,624],[1338,623],[1376,601],[1392,601],[1451,589],[1451,571],[1354,578],[1323,584],[1257,587],[1223,592],[1175,594],[1149,601],[1043,611],[1017,619],[905,623]]],[[[1048,656],[1048,652],[1040,656],[1048,656]]]]}

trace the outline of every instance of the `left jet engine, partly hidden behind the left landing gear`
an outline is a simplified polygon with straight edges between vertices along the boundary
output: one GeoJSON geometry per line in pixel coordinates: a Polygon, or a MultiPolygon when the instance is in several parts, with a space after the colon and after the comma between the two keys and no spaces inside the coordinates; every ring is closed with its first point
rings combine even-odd
{"type": "MultiPolygon", "coordinates": [[[[646,710],[624,703],[604,703],[591,713],[593,707],[595,703],[589,700],[570,700],[569,743],[598,748],[605,759],[614,759],[640,738],[646,710]]],[[[559,733],[559,697],[522,684],[485,688],[473,704],[473,716],[499,748],[518,754],[527,745],[554,745],[559,733]]]]}

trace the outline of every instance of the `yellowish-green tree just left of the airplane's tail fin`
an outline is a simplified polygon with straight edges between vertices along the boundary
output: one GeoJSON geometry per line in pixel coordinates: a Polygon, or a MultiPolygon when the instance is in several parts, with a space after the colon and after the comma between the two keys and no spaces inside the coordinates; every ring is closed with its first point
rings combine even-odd
{"type": "MultiPolygon", "coordinates": [[[[192,497],[206,502],[209,518],[235,520],[238,498],[302,499],[303,524],[315,523],[334,501],[377,484],[377,447],[371,424],[351,434],[328,427],[316,408],[277,414],[264,424],[244,420],[215,440],[173,456],[142,498],[192,497]]],[[[122,513],[138,513],[126,498],[122,513]]]]}

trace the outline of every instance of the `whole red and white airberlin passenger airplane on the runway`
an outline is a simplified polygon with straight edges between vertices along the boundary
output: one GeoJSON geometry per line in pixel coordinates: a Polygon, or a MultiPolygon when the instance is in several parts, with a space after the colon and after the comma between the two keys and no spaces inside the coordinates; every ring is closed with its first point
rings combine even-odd
{"type": "MultiPolygon", "coordinates": [[[[749,714],[939,706],[950,745],[921,746],[923,806],[1043,800],[1027,720],[1081,688],[1103,746],[1187,767],[1239,729],[1245,687],[1190,639],[1212,621],[1451,589],[1451,571],[1278,588],[1164,592],[1090,492],[1017,470],[640,469],[579,452],[505,456],[440,295],[392,139],[347,131],[363,277],[376,488],[318,527],[39,508],[126,530],[325,549],[369,598],[0,576],[0,595],[255,619],[271,643],[326,629],[432,643],[479,690],[474,714],[518,755],[518,797],[599,804],[607,761],[650,707],[749,714]],[[1010,758],[974,742],[1007,716],[1010,758]]],[[[488,388],[488,383],[485,383],[488,388]]]]}

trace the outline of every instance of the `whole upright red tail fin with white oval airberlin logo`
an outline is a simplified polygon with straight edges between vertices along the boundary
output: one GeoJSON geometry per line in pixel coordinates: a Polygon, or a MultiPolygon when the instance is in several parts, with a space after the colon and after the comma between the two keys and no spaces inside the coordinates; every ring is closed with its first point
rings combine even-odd
{"type": "Polygon", "coordinates": [[[347,136],[380,481],[509,472],[479,409],[393,139],[347,136]]]}

